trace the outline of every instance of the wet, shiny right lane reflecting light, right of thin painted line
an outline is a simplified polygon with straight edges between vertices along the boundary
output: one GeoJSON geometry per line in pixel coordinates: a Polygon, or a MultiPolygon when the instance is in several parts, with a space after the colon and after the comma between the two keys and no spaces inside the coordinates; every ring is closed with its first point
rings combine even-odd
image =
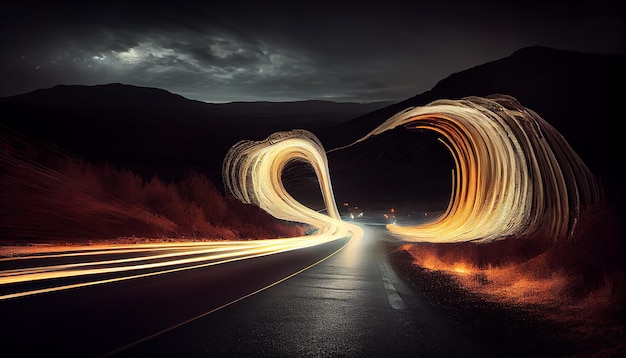
{"type": "Polygon", "coordinates": [[[477,357],[366,235],[299,275],[113,357],[477,357]]]}

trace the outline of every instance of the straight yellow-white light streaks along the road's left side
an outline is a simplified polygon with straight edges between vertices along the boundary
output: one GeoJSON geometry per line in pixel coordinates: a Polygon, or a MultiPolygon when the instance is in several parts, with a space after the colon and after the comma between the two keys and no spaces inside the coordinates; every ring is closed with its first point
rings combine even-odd
{"type": "Polygon", "coordinates": [[[0,267],[18,267],[0,271],[0,301],[214,266],[321,245],[335,239],[306,236],[250,241],[130,244],[2,258],[0,267]],[[118,258],[120,255],[128,257],[118,258]],[[93,261],[88,261],[89,258],[93,261]],[[71,262],[50,264],[59,260],[71,262]],[[67,282],[59,283],[59,279],[67,282]]]}

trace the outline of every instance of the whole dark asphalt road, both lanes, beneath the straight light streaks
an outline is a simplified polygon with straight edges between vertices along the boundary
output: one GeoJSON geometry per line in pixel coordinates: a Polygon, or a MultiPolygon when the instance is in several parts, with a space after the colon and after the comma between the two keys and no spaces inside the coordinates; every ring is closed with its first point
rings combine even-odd
{"type": "Polygon", "coordinates": [[[197,270],[0,301],[0,353],[479,356],[471,342],[395,276],[384,259],[381,239],[369,231],[346,246],[340,240],[197,270]]]}

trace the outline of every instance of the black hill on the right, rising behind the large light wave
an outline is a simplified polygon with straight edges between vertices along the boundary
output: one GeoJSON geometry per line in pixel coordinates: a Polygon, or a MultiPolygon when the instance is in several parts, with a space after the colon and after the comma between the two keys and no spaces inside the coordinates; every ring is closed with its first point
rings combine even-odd
{"type": "MultiPolygon", "coordinates": [[[[430,91],[404,101],[376,110],[351,121],[341,123],[328,130],[320,131],[319,136],[327,149],[337,148],[362,137],[378,124],[395,113],[413,106],[422,106],[438,99],[459,99],[466,96],[486,96],[507,94],[517,98],[522,105],[530,108],[554,126],[581,156],[609,192],[612,201],[623,205],[624,160],[623,134],[621,122],[624,119],[625,56],[588,54],[561,51],[546,47],[520,49],[508,57],[488,62],[462,72],[454,73],[441,80],[430,91]]],[[[392,136],[385,134],[384,137],[392,136]]],[[[404,136],[406,137],[406,136],[404,136]]],[[[389,145],[389,138],[374,138],[356,149],[337,151],[329,155],[331,165],[341,168],[350,163],[352,167],[384,167],[390,158],[398,154],[394,147],[402,147],[402,136],[395,136],[395,144],[389,145]],[[356,163],[350,151],[378,153],[381,164],[372,157],[356,163]]],[[[432,139],[417,136],[410,141],[432,139]]],[[[414,144],[416,147],[425,144],[414,144]]],[[[416,152],[415,155],[431,155],[431,152],[416,152]]],[[[394,181],[396,191],[408,188],[414,182],[413,172],[427,175],[429,171],[442,171],[451,165],[445,156],[436,152],[441,159],[440,167],[422,166],[407,163],[399,165],[407,169],[395,176],[387,174],[394,181]],[[429,168],[434,168],[430,170],[429,168]]],[[[389,173],[389,171],[387,171],[389,173]]],[[[337,174],[343,176],[341,171],[337,174]]],[[[418,175],[418,174],[415,174],[418,175]]],[[[431,181],[447,181],[446,177],[433,177],[431,181]]],[[[354,181],[355,183],[357,181],[354,181]]],[[[349,191],[350,186],[344,190],[349,191]]],[[[338,188],[338,192],[341,188],[338,188]]],[[[365,191],[366,192],[366,191],[365,191]]],[[[371,192],[371,190],[370,190],[371,192]]],[[[432,194],[424,190],[423,195],[432,194]]]]}

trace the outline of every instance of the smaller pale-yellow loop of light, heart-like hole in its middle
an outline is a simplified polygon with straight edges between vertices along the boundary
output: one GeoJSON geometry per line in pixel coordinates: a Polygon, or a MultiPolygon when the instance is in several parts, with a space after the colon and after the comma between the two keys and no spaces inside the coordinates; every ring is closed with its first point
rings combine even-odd
{"type": "Polygon", "coordinates": [[[279,219],[312,225],[318,229],[317,236],[356,239],[363,235],[361,228],[341,220],[326,153],[308,131],[279,132],[262,141],[241,141],[226,154],[222,174],[226,189],[242,202],[258,205],[279,219]],[[294,160],[313,167],[327,214],[304,206],[285,189],[281,175],[294,160]]]}

